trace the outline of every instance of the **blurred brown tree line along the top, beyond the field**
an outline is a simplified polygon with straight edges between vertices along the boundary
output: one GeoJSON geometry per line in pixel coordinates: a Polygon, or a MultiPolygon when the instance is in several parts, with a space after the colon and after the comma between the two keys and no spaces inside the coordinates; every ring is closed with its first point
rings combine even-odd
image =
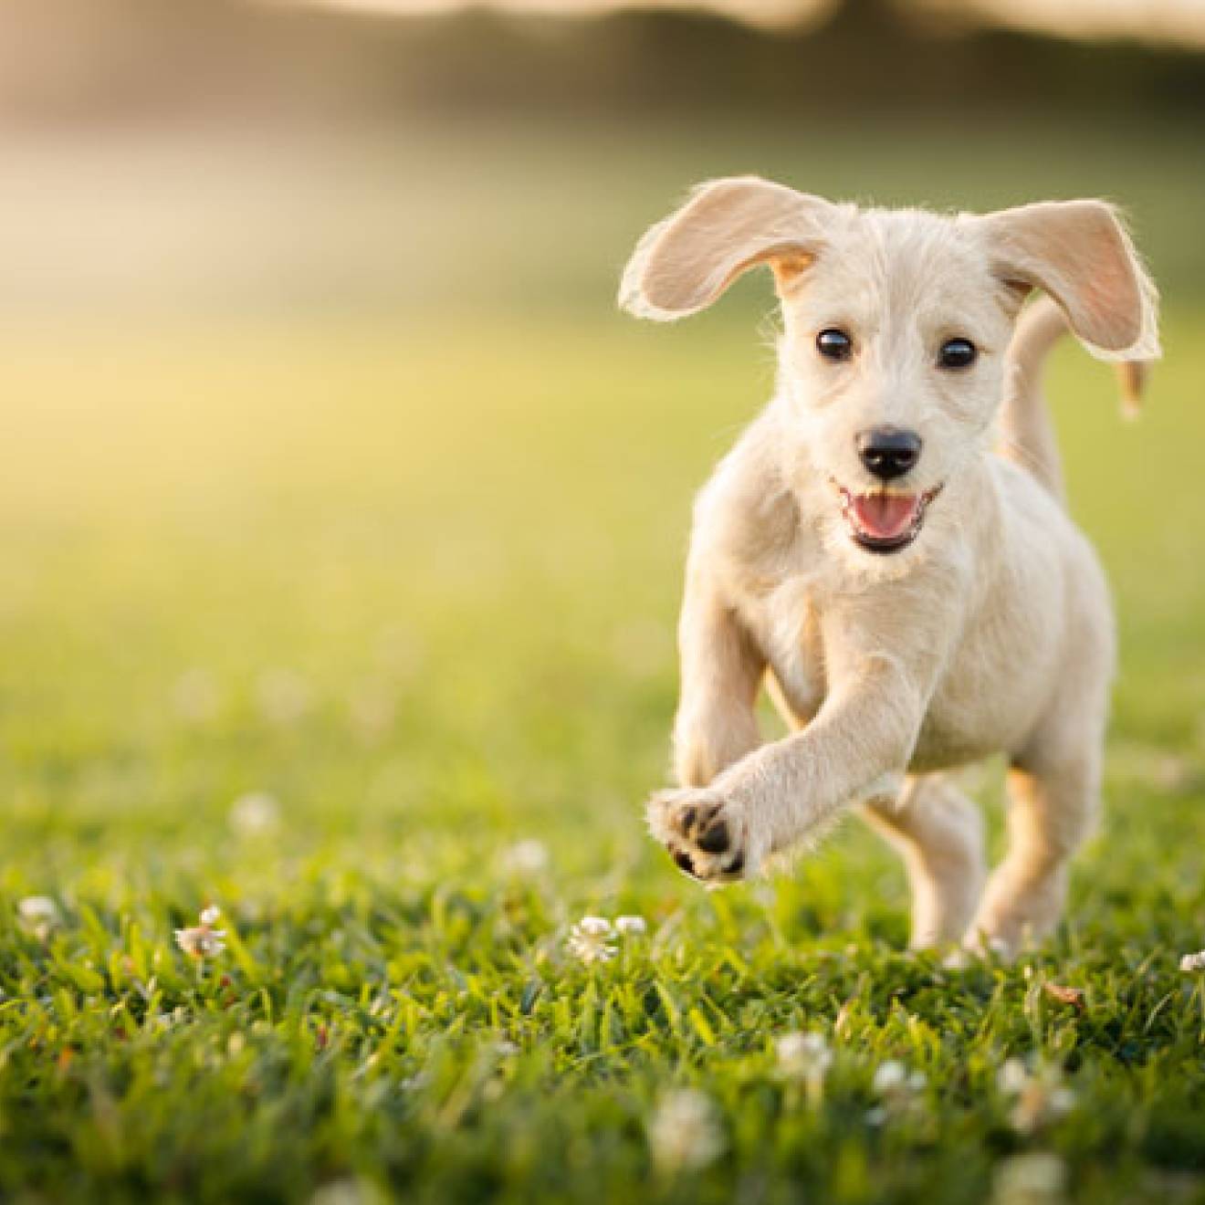
{"type": "Polygon", "coordinates": [[[0,0],[0,122],[831,111],[1205,114],[1205,54],[846,0],[766,31],[686,11],[384,17],[240,0],[0,0]]]}

